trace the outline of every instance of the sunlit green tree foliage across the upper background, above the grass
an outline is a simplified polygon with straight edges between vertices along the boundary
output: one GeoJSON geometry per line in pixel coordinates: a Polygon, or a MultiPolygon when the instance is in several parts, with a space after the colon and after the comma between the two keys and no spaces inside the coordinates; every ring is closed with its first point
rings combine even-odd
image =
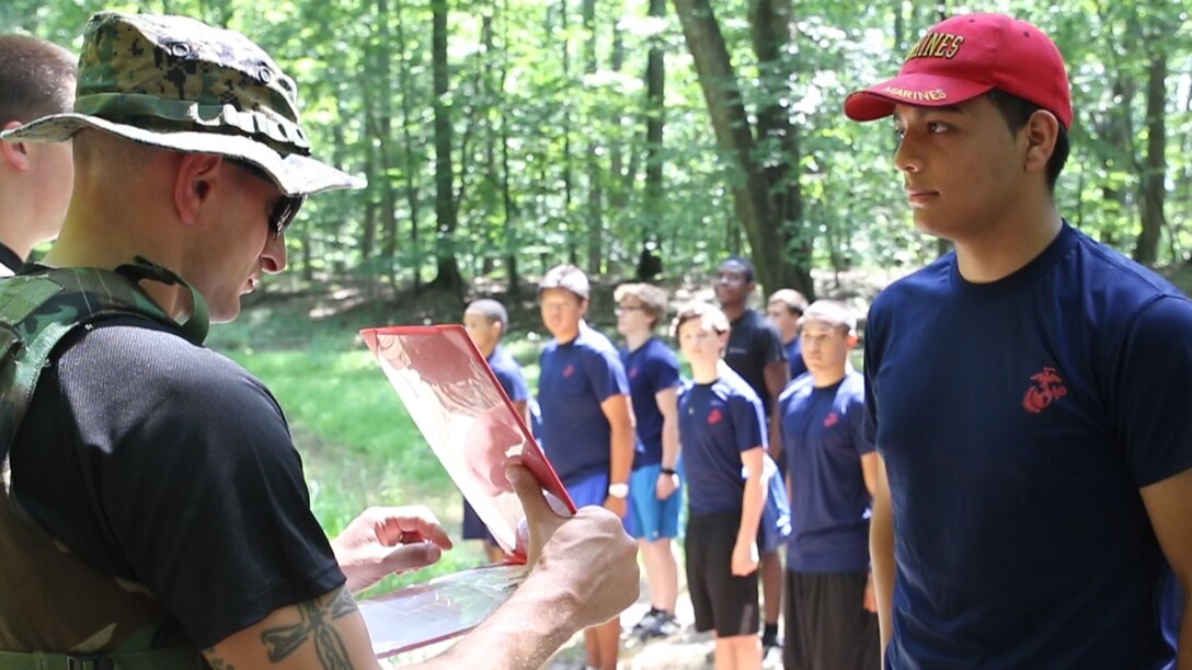
{"type": "MultiPolygon", "coordinates": [[[[797,132],[788,173],[802,213],[774,222],[786,258],[811,244],[820,268],[915,266],[936,253],[913,231],[887,126],[844,119],[852,89],[889,76],[940,7],[902,0],[855,7],[791,6],[791,42],[772,62],[752,43],[755,0],[718,0],[746,112],[784,110],[797,132]]],[[[429,0],[7,0],[0,25],[77,49],[97,10],[185,13],[242,30],[299,81],[316,151],[366,174],[359,193],[312,199],[290,235],[302,284],[364,280],[390,294],[434,277],[433,252],[454,255],[466,280],[520,279],[565,260],[597,274],[633,272],[641,244],[662,249],[671,278],[709,269],[739,249],[731,184],[740,175],[716,147],[703,93],[672,5],[602,0],[471,0],[448,5],[452,162],[458,230],[436,232],[429,0]],[[665,56],[663,199],[647,206],[645,70],[665,56]],[[590,225],[596,225],[594,235],[590,225]],[[449,243],[448,243],[449,242],[449,243]]],[[[1175,0],[999,0],[948,11],[1005,11],[1048,30],[1069,64],[1076,122],[1057,197],[1066,216],[1130,252],[1141,225],[1142,168],[1153,132],[1146,81],[1168,64],[1160,262],[1192,255],[1192,31],[1175,0]]],[[[724,82],[727,85],[727,82],[724,82]]],[[[790,157],[758,137],[755,160],[790,157]]],[[[784,187],[786,185],[776,185],[784,187]]]]}

